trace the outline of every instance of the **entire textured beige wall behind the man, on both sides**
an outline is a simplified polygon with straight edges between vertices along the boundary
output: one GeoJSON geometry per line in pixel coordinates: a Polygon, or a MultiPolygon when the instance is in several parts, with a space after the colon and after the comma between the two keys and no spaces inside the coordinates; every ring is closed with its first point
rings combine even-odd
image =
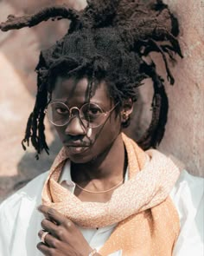
{"type": "MultiPolygon", "coordinates": [[[[22,15],[48,3],[66,1],[1,1],[0,21],[10,13],[22,15]]],[[[175,85],[167,85],[169,121],[160,149],[183,161],[192,174],[204,176],[204,6],[199,0],[166,0],[181,24],[180,42],[184,59],[171,67],[175,85]]],[[[85,1],[67,1],[70,6],[82,8],[85,1]]],[[[204,4],[203,4],[204,5],[204,4]]],[[[48,169],[59,141],[48,128],[51,156],[42,155],[35,161],[32,148],[24,153],[21,140],[29,112],[35,100],[35,64],[40,49],[52,45],[67,30],[67,22],[41,23],[32,29],[0,33],[0,200],[23,182],[48,169]],[[49,39],[49,40],[48,40],[49,39]]],[[[154,56],[165,77],[163,61],[154,56]]],[[[137,137],[150,118],[150,82],[143,86],[137,102],[129,134],[137,137]],[[140,123],[138,125],[138,123],[140,123]]]]}

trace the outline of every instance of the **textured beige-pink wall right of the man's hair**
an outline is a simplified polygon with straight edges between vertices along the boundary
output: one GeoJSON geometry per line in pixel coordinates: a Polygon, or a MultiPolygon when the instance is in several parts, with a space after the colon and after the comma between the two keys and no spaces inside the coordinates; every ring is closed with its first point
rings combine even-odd
{"type": "Polygon", "coordinates": [[[172,69],[169,122],[160,149],[175,154],[189,172],[204,176],[204,4],[166,0],[181,24],[184,58],[172,69]]]}

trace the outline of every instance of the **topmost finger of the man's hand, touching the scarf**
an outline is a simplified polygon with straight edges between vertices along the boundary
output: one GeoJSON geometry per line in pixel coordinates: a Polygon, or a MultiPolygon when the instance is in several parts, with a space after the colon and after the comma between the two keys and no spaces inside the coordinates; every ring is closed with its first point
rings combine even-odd
{"type": "Polygon", "coordinates": [[[38,210],[41,213],[45,214],[48,220],[55,221],[58,225],[63,225],[67,227],[73,226],[73,222],[71,220],[67,220],[67,218],[63,214],[54,210],[54,208],[41,205],[40,207],[38,207],[38,210]]]}

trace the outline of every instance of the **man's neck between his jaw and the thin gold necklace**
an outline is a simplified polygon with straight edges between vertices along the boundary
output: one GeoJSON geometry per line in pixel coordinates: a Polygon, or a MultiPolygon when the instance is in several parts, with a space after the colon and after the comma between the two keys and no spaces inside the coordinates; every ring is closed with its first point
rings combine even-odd
{"type": "Polygon", "coordinates": [[[72,163],[73,181],[86,184],[89,181],[122,181],[126,168],[122,136],[118,135],[110,148],[96,159],[83,164],[72,163]]]}

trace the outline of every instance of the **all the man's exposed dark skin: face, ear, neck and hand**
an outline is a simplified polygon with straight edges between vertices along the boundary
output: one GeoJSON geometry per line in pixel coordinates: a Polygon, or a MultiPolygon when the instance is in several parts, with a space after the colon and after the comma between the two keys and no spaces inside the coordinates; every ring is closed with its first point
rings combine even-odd
{"type": "MultiPolygon", "coordinates": [[[[69,108],[80,108],[87,102],[87,79],[58,77],[52,101],[65,102],[69,108]]],[[[104,111],[114,108],[105,82],[99,82],[91,102],[99,104],[104,111]]],[[[125,102],[119,113],[116,113],[114,108],[101,126],[92,128],[89,132],[77,114],[66,126],[56,127],[69,154],[73,181],[80,187],[93,192],[103,191],[124,180],[127,163],[121,136],[121,122],[125,121],[124,111],[131,113],[131,109],[131,101],[125,102]]],[[[110,200],[112,192],[113,190],[105,194],[89,194],[79,187],[74,190],[74,194],[80,200],[98,202],[110,200]]],[[[45,216],[41,221],[41,227],[49,233],[45,238],[46,243],[37,245],[41,253],[54,256],[87,256],[92,252],[80,229],[71,220],[67,220],[50,207],[40,206],[39,211],[45,216]]],[[[41,230],[40,238],[42,233],[41,230]]]]}

